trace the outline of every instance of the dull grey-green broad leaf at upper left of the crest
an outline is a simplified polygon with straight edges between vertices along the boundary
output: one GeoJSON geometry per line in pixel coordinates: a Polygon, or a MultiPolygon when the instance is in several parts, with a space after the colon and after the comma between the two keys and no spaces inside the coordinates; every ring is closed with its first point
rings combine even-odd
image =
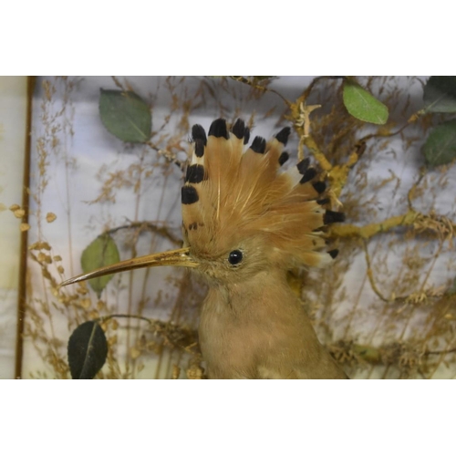
{"type": "Polygon", "coordinates": [[[149,106],[134,92],[101,89],[99,117],[109,133],[119,140],[146,142],[150,139],[149,106]]]}

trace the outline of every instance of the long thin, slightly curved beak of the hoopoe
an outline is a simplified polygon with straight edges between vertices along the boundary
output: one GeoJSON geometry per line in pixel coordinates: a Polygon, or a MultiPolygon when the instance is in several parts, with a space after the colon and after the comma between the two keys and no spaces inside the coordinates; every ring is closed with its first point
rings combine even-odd
{"type": "Polygon", "coordinates": [[[138,258],[132,258],[131,260],[121,261],[116,264],[109,264],[109,266],[103,266],[90,273],[77,275],[72,277],[65,282],[62,282],[59,286],[65,286],[70,284],[76,284],[82,280],[94,279],[101,275],[109,275],[115,273],[121,273],[122,271],[130,271],[131,269],[140,269],[140,267],[154,267],[154,266],[185,266],[185,267],[197,267],[199,263],[194,261],[189,255],[190,248],[186,247],[178,250],[171,250],[169,252],[162,252],[161,254],[150,254],[139,256],[138,258]]]}

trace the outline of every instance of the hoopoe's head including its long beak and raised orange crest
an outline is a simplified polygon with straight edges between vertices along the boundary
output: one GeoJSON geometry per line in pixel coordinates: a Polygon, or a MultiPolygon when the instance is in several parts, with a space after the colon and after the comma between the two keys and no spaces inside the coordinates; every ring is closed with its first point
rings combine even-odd
{"type": "Polygon", "coordinates": [[[62,285],[158,265],[194,268],[209,283],[236,283],[270,268],[330,263],[337,251],[322,252],[321,229],[343,221],[343,214],[324,208],[326,186],[308,159],[281,171],[289,134],[285,128],[267,142],[257,136],[244,150],[250,131],[243,120],[229,130],[216,119],[207,136],[194,125],[181,188],[183,247],[105,266],[62,285]]]}

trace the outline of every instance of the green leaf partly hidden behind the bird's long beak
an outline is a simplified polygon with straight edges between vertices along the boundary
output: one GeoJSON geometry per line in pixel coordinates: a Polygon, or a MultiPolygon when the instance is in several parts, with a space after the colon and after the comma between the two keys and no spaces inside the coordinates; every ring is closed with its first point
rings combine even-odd
{"type": "MultiPolygon", "coordinates": [[[[89,273],[99,267],[118,263],[119,260],[119,250],[112,237],[109,236],[109,234],[101,234],[95,241],[88,244],[82,253],[81,266],[84,273],[89,273]]],[[[88,284],[99,297],[111,278],[112,274],[103,275],[101,277],[90,279],[88,284]]]]}

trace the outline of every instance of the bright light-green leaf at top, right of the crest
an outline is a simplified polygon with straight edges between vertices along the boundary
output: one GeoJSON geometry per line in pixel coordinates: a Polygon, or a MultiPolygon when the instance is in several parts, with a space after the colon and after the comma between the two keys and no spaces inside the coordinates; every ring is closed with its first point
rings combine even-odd
{"type": "Polygon", "coordinates": [[[378,125],[387,122],[388,108],[356,82],[344,81],[343,98],[347,111],[353,117],[378,125]]]}

